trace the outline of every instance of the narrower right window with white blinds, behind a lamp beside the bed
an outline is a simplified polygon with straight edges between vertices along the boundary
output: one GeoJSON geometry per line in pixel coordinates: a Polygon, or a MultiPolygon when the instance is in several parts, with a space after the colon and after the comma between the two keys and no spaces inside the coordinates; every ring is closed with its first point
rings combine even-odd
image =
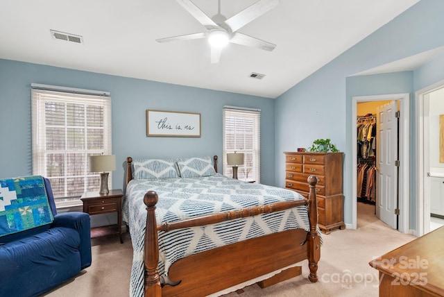
{"type": "Polygon", "coordinates": [[[244,165],[237,169],[239,180],[260,183],[260,110],[225,106],[223,109],[223,174],[232,177],[227,153],[244,153],[244,165]]]}

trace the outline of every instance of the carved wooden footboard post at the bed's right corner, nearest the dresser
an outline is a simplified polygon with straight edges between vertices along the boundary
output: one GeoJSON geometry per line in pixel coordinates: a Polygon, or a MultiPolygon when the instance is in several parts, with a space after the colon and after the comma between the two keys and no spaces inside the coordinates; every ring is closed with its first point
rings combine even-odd
{"type": "Polygon", "coordinates": [[[308,237],[308,265],[310,269],[309,280],[311,282],[318,281],[318,262],[321,258],[321,237],[318,236],[318,202],[316,201],[316,183],[318,178],[316,176],[309,176],[307,182],[310,186],[310,192],[308,196],[309,200],[309,220],[310,220],[310,232],[308,237]]]}

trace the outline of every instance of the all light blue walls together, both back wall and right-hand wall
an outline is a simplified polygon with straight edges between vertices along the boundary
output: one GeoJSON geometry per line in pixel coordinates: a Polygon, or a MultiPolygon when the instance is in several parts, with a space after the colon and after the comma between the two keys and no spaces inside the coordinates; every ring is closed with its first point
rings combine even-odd
{"type": "MultiPolygon", "coordinates": [[[[444,80],[444,57],[400,74],[350,76],[444,46],[443,15],[443,0],[418,2],[275,100],[0,60],[0,177],[32,172],[31,83],[111,92],[113,153],[122,166],[128,155],[221,155],[223,105],[261,108],[262,182],[283,187],[283,152],[308,147],[317,138],[330,138],[345,153],[345,223],[352,223],[355,164],[352,164],[351,152],[355,119],[352,119],[351,96],[411,94],[409,182],[412,185],[416,182],[413,96],[417,90],[444,80]],[[146,137],[145,110],[148,108],[200,112],[202,137],[146,137]]],[[[114,187],[123,186],[123,167],[114,172],[113,182],[114,187]]],[[[412,188],[411,205],[415,195],[412,188]]],[[[411,228],[414,228],[413,212],[411,216],[411,228]]]]}

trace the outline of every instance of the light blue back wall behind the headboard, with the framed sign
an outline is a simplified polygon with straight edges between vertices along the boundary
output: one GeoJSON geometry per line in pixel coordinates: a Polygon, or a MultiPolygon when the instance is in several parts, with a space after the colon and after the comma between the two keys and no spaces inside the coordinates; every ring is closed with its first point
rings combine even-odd
{"type": "MultiPolygon", "coordinates": [[[[262,183],[273,185],[274,99],[0,60],[0,178],[32,173],[31,83],[108,91],[112,96],[113,187],[123,187],[126,157],[219,155],[224,105],[259,108],[262,183]],[[201,137],[146,137],[146,109],[200,112],[201,137]]],[[[222,172],[219,162],[219,172],[222,172]]]]}

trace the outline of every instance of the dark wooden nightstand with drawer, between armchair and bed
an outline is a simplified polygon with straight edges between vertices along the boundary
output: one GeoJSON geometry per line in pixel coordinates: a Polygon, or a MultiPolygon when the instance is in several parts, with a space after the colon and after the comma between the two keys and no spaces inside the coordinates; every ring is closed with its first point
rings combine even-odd
{"type": "Polygon", "coordinates": [[[120,243],[122,238],[122,196],[121,189],[112,189],[108,194],[99,194],[99,192],[85,192],[80,200],[83,201],[83,212],[90,216],[94,214],[108,214],[117,212],[117,225],[101,226],[91,228],[91,238],[105,235],[119,234],[120,243]]]}

